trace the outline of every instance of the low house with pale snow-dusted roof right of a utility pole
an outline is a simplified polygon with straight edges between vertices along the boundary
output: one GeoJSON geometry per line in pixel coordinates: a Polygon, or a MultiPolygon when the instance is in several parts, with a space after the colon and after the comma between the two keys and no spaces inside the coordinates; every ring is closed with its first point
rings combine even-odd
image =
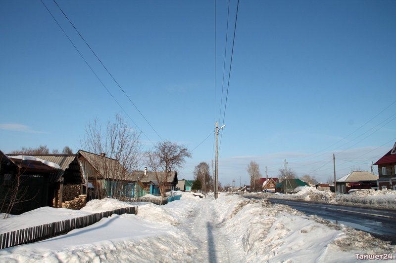
{"type": "Polygon", "coordinates": [[[347,193],[350,189],[370,189],[377,186],[378,176],[367,171],[353,171],[336,181],[337,192],[347,193]]]}

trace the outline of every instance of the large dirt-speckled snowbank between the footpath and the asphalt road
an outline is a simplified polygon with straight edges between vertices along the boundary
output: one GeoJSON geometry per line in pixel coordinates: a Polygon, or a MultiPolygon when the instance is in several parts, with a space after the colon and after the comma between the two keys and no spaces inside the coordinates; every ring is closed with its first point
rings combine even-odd
{"type": "Polygon", "coordinates": [[[384,254],[396,249],[365,232],[307,217],[265,199],[219,199],[219,220],[244,256],[242,262],[354,262],[355,253],[384,254]]]}

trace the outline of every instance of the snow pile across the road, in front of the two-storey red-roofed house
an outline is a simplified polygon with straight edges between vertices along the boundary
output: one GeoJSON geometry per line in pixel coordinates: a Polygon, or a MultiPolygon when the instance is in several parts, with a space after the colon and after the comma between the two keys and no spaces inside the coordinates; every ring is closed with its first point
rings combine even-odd
{"type": "Polygon", "coordinates": [[[383,207],[396,209],[396,191],[383,189],[364,189],[350,194],[339,194],[330,203],[347,205],[369,205],[373,207],[383,207]]]}

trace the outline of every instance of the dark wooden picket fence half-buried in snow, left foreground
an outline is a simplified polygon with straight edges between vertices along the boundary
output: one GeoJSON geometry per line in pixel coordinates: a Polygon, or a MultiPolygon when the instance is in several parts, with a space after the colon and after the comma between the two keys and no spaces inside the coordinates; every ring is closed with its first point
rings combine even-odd
{"type": "Polygon", "coordinates": [[[102,218],[109,217],[112,214],[137,214],[138,207],[124,207],[111,211],[91,214],[83,217],[67,219],[59,222],[45,225],[27,227],[21,230],[15,230],[8,233],[0,234],[0,249],[14,247],[22,244],[33,243],[48,239],[54,236],[63,235],[76,229],[93,225],[102,218]]]}

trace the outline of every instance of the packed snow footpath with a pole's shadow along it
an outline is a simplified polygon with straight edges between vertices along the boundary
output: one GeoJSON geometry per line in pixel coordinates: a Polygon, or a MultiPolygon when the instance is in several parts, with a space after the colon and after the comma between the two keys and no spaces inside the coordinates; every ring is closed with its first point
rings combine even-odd
{"type": "Polygon", "coordinates": [[[191,242],[197,246],[197,262],[222,263],[241,262],[237,248],[229,236],[222,231],[222,222],[214,210],[216,200],[204,198],[191,212],[190,216],[178,225],[191,242]]]}

